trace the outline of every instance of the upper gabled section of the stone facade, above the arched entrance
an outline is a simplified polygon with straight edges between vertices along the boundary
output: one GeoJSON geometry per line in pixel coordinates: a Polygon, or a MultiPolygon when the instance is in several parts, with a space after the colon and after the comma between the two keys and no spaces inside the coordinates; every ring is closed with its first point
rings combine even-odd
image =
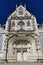
{"type": "Polygon", "coordinates": [[[10,31],[17,31],[21,29],[29,31],[33,29],[36,30],[36,28],[36,18],[30,14],[30,12],[28,12],[22,5],[15,9],[15,11],[8,17],[6,22],[6,29],[9,29],[10,31]],[[21,21],[24,23],[23,26],[18,25],[18,23],[21,23],[21,21]]]}

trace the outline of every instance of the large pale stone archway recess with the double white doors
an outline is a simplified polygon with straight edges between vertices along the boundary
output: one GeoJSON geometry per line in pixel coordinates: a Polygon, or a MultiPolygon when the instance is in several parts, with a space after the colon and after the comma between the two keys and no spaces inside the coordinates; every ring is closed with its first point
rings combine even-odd
{"type": "Polygon", "coordinates": [[[7,58],[16,61],[27,61],[28,55],[35,54],[35,40],[28,37],[12,37],[8,42],[8,55],[7,58]],[[34,47],[33,47],[34,45],[34,47]],[[33,54],[32,54],[33,53],[33,54]]]}

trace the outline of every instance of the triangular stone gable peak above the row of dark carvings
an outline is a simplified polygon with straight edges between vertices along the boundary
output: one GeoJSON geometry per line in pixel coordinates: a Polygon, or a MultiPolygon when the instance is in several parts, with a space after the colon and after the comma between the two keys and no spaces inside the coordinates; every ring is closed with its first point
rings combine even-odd
{"type": "Polygon", "coordinates": [[[22,5],[20,5],[20,6],[18,6],[17,8],[16,8],[16,10],[9,16],[9,18],[10,17],[31,17],[32,18],[32,14],[30,14],[30,12],[29,11],[27,11],[26,10],[26,8],[24,7],[24,6],[22,6],[22,5]]]}

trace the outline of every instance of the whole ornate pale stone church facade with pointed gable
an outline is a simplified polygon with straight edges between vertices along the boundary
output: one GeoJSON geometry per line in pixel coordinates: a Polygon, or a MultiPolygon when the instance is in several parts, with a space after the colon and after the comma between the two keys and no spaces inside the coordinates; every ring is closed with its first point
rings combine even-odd
{"type": "Polygon", "coordinates": [[[16,7],[8,17],[5,29],[0,26],[0,62],[37,62],[42,59],[40,33],[36,17],[26,7],[16,7]]]}

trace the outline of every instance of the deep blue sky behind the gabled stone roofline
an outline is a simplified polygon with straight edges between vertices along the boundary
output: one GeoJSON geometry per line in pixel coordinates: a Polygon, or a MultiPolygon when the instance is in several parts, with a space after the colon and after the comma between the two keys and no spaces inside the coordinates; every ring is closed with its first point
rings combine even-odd
{"type": "Polygon", "coordinates": [[[27,10],[43,23],[43,0],[0,0],[0,24],[5,24],[8,16],[15,10],[16,4],[26,4],[27,10]]]}

